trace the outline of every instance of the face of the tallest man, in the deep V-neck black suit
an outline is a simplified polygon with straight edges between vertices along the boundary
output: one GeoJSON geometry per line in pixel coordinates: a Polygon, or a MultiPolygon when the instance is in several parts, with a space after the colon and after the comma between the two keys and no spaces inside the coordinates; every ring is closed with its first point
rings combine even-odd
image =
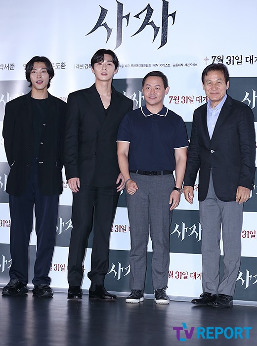
{"type": "Polygon", "coordinates": [[[95,74],[96,80],[102,82],[112,80],[113,76],[117,73],[117,69],[115,69],[115,65],[110,54],[104,54],[104,61],[96,62],[94,66],[91,66],[91,70],[95,74]]]}

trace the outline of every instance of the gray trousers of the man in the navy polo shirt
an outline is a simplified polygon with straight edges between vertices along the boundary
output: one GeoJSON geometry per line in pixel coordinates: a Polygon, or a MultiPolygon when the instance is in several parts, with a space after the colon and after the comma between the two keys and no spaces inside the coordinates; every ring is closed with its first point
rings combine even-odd
{"type": "Polygon", "coordinates": [[[154,290],[167,286],[170,264],[171,211],[169,199],[174,177],[130,173],[138,190],[126,194],[131,250],[130,289],[144,290],[149,231],[152,240],[152,282],[154,290]]]}

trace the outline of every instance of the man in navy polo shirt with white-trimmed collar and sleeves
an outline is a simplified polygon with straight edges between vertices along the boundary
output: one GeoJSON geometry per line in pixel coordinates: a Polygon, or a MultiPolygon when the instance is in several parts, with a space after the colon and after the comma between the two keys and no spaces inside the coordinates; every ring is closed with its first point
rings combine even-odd
{"type": "Polygon", "coordinates": [[[146,106],[127,113],[117,137],[118,161],[126,181],[131,250],[130,289],[126,303],[144,300],[147,243],[152,240],[155,302],[169,304],[171,212],[182,193],[188,146],[182,118],[163,105],[168,79],[160,71],[142,81],[146,106]],[[176,181],[174,181],[175,171],[176,181]]]}

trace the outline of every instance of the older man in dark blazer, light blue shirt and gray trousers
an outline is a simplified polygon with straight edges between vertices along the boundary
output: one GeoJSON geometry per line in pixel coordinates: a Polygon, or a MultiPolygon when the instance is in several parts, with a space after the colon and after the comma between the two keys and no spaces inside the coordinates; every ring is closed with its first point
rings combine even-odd
{"type": "Polygon", "coordinates": [[[209,101],[194,112],[184,178],[184,195],[192,204],[199,170],[203,294],[192,303],[230,307],[240,267],[243,204],[254,184],[254,116],[250,107],[226,94],[229,74],[223,64],[207,66],[202,82],[209,101]],[[224,274],[220,279],[221,226],[224,274]]]}

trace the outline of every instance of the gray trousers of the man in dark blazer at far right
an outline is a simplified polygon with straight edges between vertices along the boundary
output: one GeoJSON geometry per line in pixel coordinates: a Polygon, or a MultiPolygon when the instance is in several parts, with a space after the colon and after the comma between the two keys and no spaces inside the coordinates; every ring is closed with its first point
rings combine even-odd
{"type": "Polygon", "coordinates": [[[243,204],[220,201],[212,173],[206,199],[200,202],[202,226],[203,292],[233,296],[241,260],[243,204]],[[220,229],[222,225],[224,275],[220,280],[220,229]]]}

